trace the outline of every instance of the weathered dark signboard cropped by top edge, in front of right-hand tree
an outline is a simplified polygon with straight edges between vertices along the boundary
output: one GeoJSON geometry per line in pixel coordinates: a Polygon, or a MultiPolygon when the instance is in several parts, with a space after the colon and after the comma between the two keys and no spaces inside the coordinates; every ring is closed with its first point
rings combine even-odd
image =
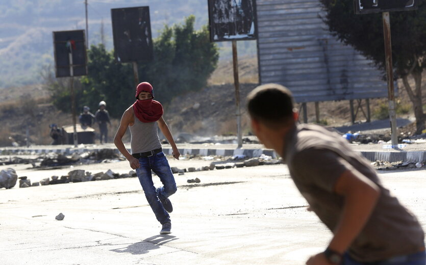
{"type": "Polygon", "coordinates": [[[418,0],[354,0],[356,14],[370,14],[417,9],[418,0]]]}

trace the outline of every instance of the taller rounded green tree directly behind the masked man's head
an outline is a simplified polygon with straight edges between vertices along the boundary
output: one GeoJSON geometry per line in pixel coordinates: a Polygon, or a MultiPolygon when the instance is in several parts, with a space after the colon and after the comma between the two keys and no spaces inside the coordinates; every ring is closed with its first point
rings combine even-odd
{"type": "Polygon", "coordinates": [[[184,24],[165,26],[154,40],[154,60],[142,63],[141,74],[150,82],[156,99],[168,103],[174,96],[201,90],[216,69],[218,48],[207,26],[194,30],[194,16],[184,24]]]}

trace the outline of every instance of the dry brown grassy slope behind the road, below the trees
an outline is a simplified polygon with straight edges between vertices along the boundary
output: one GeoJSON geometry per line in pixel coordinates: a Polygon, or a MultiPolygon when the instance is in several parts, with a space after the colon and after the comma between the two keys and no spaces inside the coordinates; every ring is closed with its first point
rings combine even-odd
{"type": "MultiPolygon", "coordinates": [[[[165,119],[174,134],[190,133],[199,136],[236,134],[235,88],[231,61],[222,61],[212,74],[208,87],[196,93],[181,95],[165,106],[165,119]]],[[[257,59],[239,60],[240,98],[243,133],[248,133],[249,124],[245,112],[245,97],[258,82],[257,59]]],[[[425,75],[426,77],[426,75],[425,75]]],[[[423,78],[423,98],[426,102],[426,78],[423,78]]],[[[399,85],[402,87],[402,85],[399,85]]],[[[404,89],[399,89],[397,98],[399,117],[412,115],[410,101],[404,89]]],[[[372,119],[383,116],[387,106],[386,99],[370,101],[372,119]]],[[[296,105],[300,108],[300,105],[296,105]]],[[[364,106],[365,107],[365,106],[364,106]]],[[[350,124],[348,101],[320,102],[320,123],[341,126],[350,124]]],[[[385,113],[386,114],[386,113],[385,113]]],[[[365,119],[359,114],[357,121],[365,119]]],[[[54,108],[49,95],[42,85],[0,89],[0,146],[10,146],[12,137],[25,144],[28,129],[30,142],[49,144],[51,123],[59,126],[72,124],[70,114],[64,114],[54,108]]],[[[308,103],[308,122],[315,122],[314,103],[308,103]]],[[[110,136],[118,127],[118,120],[112,121],[110,136]]],[[[97,129],[97,128],[96,128],[97,129]]]]}

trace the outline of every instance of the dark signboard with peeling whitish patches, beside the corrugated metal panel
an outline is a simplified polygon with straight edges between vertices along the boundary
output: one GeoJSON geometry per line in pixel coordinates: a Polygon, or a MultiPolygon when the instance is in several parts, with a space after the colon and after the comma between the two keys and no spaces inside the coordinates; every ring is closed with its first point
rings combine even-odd
{"type": "Polygon", "coordinates": [[[255,40],[255,0],[209,0],[210,41],[255,40]]]}

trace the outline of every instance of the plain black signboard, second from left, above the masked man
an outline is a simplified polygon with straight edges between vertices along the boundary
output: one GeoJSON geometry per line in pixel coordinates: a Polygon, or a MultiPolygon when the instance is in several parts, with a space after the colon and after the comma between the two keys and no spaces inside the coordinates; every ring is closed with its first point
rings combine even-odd
{"type": "Polygon", "coordinates": [[[153,58],[149,7],[111,9],[111,20],[117,62],[136,62],[153,58]]]}

